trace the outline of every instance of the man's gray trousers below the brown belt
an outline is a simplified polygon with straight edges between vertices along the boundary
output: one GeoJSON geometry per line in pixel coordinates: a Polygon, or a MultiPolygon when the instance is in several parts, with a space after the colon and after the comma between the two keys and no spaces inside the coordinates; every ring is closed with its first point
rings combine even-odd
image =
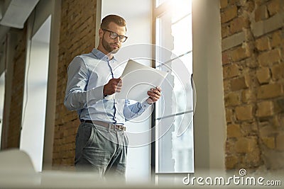
{"type": "Polygon", "coordinates": [[[114,176],[125,181],[128,144],[124,131],[82,122],[76,136],[76,171],[92,171],[99,177],[114,176]]]}

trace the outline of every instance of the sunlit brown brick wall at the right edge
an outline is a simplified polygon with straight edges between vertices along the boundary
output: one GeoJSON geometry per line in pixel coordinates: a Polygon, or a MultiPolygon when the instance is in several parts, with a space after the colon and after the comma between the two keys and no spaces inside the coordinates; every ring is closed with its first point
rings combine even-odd
{"type": "Polygon", "coordinates": [[[284,168],[284,1],[220,0],[226,168],[284,168]]]}

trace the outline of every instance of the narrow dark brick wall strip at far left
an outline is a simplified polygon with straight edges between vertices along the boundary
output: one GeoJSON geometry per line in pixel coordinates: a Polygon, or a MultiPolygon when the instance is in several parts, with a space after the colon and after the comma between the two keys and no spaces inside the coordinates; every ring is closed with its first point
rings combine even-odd
{"type": "MultiPolygon", "coordinates": [[[[13,79],[11,81],[11,102],[9,111],[9,125],[3,125],[8,132],[5,149],[20,147],[21,119],[23,108],[23,88],[26,68],[26,26],[23,30],[14,30],[17,33],[18,44],[13,56],[13,79]],[[7,127],[8,126],[8,127],[7,127]]],[[[15,37],[15,36],[13,36],[15,37]]],[[[7,103],[7,102],[5,102],[7,103]]],[[[5,123],[6,121],[4,121],[5,123]]],[[[3,140],[2,140],[3,141],[3,140]]]]}

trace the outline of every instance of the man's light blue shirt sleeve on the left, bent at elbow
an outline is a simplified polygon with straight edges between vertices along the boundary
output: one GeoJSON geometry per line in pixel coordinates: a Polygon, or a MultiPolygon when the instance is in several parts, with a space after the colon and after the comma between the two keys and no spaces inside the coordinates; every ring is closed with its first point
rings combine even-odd
{"type": "Polygon", "coordinates": [[[75,57],[67,69],[67,86],[65,91],[64,105],[68,110],[80,110],[87,108],[89,103],[100,101],[104,98],[104,86],[90,88],[87,90],[89,73],[83,59],[75,57]]]}

